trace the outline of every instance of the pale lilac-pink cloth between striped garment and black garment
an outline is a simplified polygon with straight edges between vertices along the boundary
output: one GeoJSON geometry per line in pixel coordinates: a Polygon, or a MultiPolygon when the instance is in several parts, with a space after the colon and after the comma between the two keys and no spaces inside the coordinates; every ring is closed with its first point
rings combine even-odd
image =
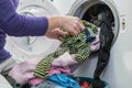
{"type": "Polygon", "coordinates": [[[91,47],[90,47],[91,52],[97,52],[100,48],[99,35],[100,35],[100,28],[98,28],[98,33],[95,41],[91,42],[91,47]]]}

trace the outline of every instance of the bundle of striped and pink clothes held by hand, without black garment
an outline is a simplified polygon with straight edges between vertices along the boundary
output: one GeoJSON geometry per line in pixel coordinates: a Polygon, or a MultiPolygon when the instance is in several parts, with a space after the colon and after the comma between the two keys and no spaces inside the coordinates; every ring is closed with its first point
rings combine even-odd
{"type": "Polygon", "coordinates": [[[53,75],[65,74],[72,76],[70,66],[85,62],[100,46],[100,29],[87,21],[84,21],[84,23],[87,29],[78,35],[62,36],[64,42],[57,51],[45,58],[33,58],[34,62],[30,59],[15,65],[10,72],[10,76],[20,85],[29,82],[32,86],[42,84],[43,80],[53,75]]]}

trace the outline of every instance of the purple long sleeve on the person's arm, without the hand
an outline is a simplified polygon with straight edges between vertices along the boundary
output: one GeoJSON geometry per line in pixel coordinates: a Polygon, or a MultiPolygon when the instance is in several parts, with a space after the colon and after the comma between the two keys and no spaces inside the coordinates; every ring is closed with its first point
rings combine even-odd
{"type": "Polygon", "coordinates": [[[48,21],[46,16],[20,15],[12,0],[0,0],[0,28],[11,36],[40,36],[45,34],[48,21]]]}

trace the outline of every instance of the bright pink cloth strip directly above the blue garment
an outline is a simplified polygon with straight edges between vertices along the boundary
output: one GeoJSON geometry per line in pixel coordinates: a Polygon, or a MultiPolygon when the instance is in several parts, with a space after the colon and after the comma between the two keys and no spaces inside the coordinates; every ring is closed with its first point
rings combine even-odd
{"type": "Polygon", "coordinates": [[[48,75],[52,76],[54,74],[67,74],[67,75],[73,75],[70,73],[70,68],[68,66],[53,66],[50,68],[48,75]]]}

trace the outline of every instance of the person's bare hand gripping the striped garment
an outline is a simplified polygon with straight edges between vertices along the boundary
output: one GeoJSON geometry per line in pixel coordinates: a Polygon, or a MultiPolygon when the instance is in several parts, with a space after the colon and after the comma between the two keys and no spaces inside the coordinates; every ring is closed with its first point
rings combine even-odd
{"type": "Polygon", "coordinates": [[[85,26],[79,18],[69,15],[53,15],[48,18],[48,29],[45,35],[52,38],[61,40],[61,35],[67,34],[66,31],[76,35],[82,31],[85,26]]]}

